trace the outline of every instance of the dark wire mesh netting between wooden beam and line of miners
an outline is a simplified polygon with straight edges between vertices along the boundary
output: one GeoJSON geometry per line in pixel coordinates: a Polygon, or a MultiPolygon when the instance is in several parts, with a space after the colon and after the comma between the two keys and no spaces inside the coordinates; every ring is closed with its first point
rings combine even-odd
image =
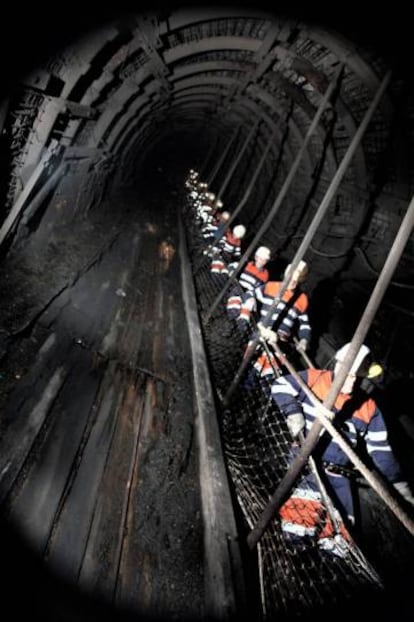
{"type": "MultiPolygon", "coordinates": [[[[212,244],[203,235],[202,198],[200,200],[195,192],[190,198],[186,196],[184,201],[183,218],[206,354],[217,396],[225,461],[244,517],[246,535],[257,524],[289,469],[292,437],[285,418],[271,397],[271,380],[252,373],[256,356],[240,376],[231,399],[225,399],[251,338],[251,334],[239,330],[235,320],[226,312],[229,292],[234,294],[239,288],[242,295],[243,290],[237,279],[229,287],[228,274],[211,271],[212,244]],[[227,292],[211,313],[223,288],[227,288],[227,292]]],[[[297,361],[294,364],[297,365],[297,361]]],[[[284,372],[283,366],[275,370],[277,375],[284,372]]],[[[311,487],[306,483],[309,469],[308,463],[298,480],[302,492],[305,490],[305,497],[307,488],[312,495],[311,487]]],[[[298,482],[296,486],[299,486],[298,482]]],[[[291,511],[292,507],[297,512],[297,523],[300,524],[302,519],[303,532],[298,535],[282,529],[280,515],[276,513],[258,543],[258,576],[264,619],[275,614],[298,617],[307,615],[310,610],[313,613],[326,611],[351,602],[362,592],[368,596],[381,591],[378,574],[349,535],[336,509],[335,517],[345,538],[341,538],[340,546],[327,550],[321,546],[323,538],[320,536],[326,530],[332,508],[319,510],[316,530],[309,535],[309,505],[301,503],[299,498],[291,505],[291,511]]]]}

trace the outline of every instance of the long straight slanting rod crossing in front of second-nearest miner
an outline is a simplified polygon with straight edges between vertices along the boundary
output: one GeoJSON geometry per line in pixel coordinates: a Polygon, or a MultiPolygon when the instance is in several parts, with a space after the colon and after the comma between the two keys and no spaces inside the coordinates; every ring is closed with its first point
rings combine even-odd
{"type": "MultiPolygon", "coordinates": [[[[305,252],[308,248],[308,246],[310,245],[313,236],[315,235],[321,221],[322,218],[325,216],[328,207],[333,199],[333,197],[335,196],[339,185],[341,183],[341,180],[343,178],[343,176],[345,175],[345,172],[351,162],[352,157],[354,156],[354,153],[359,145],[359,143],[362,140],[362,136],[364,135],[364,132],[366,130],[366,128],[368,127],[368,124],[384,94],[384,91],[389,83],[391,79],[391,72],[388,72],[385,76],[384,79],[381,82],[381,85],[377,91],[377,93],[375,94],[374,99],[371,102],[371,105],[369,106],[368,110],[365,113],[364,118],[361,121],[361,124],[359,125],[357,131],[355,132],[355,135],[344,155],[344,157],[342,158],[342,161],[338,167],[338,170],[336,171],[335,175],[332,178],[332,181],[329,185],[329,188],[327,189],[324,198],[322,199],[322,202],[320,204],[320,206],[318,207],[318,210],[312,220],[312,222],[310,223],[308,230],[298,248],[298,250],[296,251],[296,254],[292,260],[292,269],[291,269],[291,273],[293,274],[296,270],[296,268],[299,265],[299,262],[301,261],[301,259],[304,257],[305,252]]],[[[285,293],[287,286],[289,284],[289,278],[286,278],[283,280],[282,286],[278,292],[278,295],[275,297],[275,299],[273,300],[272,304],[269,307],[269,310],[266,314],[265,319],[263,320],[263,324],[265,326],[268,326],[271,324],[272,322],[272,315],[273,315],[273,311],[276,309],[277,305],[279,304],[280,300],[282,299],[283,294],[285,293]]],[[[239,370],[236,372],[236,375],[233,379],[232,384],[230,385],[230,388],[227,392],[227,394],[224,396],[224,403],[228,404],[229,400],[232,396],[232,394],[234,393],[234,391],[237,389],[237,386],[243,376],[244,370],[246,369],[247,365],[249,364],[250,359],[252,358],[254,351],[256,349],[256,345],[257,345],[257,338],[253,339],[252,342],[250,343],[250,345],[247,347],[245,355],[243,357],[243,361],[240,365],[239,370]]]]}

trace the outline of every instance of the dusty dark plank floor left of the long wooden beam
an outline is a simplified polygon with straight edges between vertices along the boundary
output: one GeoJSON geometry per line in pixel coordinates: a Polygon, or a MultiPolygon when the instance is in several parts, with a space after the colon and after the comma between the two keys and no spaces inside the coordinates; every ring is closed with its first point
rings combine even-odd
{"type": "Polygon", "coordinates": [[[53,209],[0,268],[2,563],[7,585],[27,595],[14,609],[199,618],[176,211],[133,193],[87,220],[53,209]]]}

